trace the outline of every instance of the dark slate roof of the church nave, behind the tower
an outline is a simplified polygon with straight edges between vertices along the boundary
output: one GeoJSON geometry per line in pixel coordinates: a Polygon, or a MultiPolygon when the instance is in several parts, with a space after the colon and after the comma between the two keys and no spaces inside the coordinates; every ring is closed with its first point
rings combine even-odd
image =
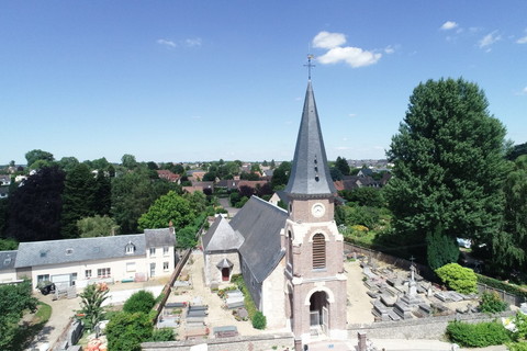
{"type": "Polygon", "coordinates": [[[229,223],[234,230],[244,236],[239,253],[260,283],[284,254],[280,231],[285,227],[287,219],[287,211],[253,196],[229,223]]]}

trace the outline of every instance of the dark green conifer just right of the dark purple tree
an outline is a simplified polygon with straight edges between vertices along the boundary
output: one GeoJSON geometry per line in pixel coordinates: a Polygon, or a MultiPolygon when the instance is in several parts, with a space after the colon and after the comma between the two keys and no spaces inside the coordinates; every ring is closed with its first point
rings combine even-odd
{"type": "Polygon", "coordinates": [[[78,238],[77,222],[96,214],[94,188],[96,180],[86,163],[76,166],[66,174],[60,218],[64,238],[78,238]]]}

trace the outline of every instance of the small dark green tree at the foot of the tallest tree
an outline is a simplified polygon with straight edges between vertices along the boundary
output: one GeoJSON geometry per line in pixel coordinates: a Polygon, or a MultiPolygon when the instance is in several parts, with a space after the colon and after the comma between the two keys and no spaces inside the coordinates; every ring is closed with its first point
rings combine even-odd
{"type": "Polygon", "coordinates": [[[458,261],[458,242],[451,236],[445,235],[439,224],[433,231],[426,234],[426,259],[433,270],[458,261]]]}

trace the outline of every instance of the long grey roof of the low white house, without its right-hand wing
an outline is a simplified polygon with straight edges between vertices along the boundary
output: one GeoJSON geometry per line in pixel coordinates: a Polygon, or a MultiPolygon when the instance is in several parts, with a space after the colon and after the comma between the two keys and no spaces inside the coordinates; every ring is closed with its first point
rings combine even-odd
{"type": "Polygon", "coordinates": [[[20,242],[15,268],[144,256],[145,234],[20,242]],[[135,246],[125,254],[126,245],[135,246]]]}

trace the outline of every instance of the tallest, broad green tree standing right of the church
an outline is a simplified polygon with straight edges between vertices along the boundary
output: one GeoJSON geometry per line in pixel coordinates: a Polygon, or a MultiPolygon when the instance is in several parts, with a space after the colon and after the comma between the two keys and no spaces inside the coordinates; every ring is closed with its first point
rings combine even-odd
{"type": "Polygon", "coordinates": [[[502,224],[505,128],[476,84],[429,80],[415,88],[389,159],[384,189],[400,247],[425,252],[426,233],[490,242],[502,224]]]}

